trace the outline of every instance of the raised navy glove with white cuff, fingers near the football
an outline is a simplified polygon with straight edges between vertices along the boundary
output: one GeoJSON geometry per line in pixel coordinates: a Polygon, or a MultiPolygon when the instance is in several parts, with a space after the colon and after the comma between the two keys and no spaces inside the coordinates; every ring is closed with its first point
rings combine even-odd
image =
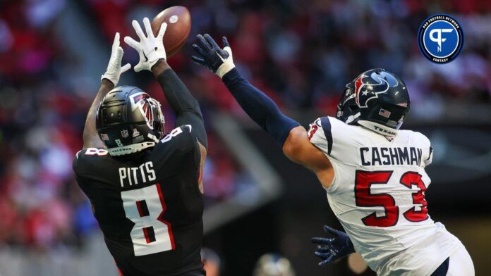
{"type": "Polygon", "coordinates": [[[222,37],[224,48],[220,48],[210,35],[197,35],[198,42],[193,44],[196,56],[191,59],[202,66],[210,69],[219,77],[223,77],[230,70],[235,68],[232,50],[226,37],[222,37]]]}

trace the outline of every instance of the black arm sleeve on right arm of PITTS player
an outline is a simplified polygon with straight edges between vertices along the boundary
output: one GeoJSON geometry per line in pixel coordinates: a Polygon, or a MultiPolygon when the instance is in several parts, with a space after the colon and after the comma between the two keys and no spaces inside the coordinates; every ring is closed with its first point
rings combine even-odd
{"type": "Polygon", "coordinates": [[[192,125],[198,141],[208,149],[205,124],[200,105],[189,92],[188,87],[179,79],[174,70],[167,69],[157,77],[169,106],[176,113],[176,127],[192,125]]]}

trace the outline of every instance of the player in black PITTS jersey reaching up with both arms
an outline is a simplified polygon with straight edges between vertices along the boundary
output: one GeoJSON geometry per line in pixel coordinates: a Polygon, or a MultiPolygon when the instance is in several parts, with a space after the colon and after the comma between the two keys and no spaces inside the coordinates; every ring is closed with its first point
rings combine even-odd
{"type": "Polygon", "coordinates": [[[150,70],[176,113],[176,128],[164,130],[160,103],[138,87],[115,87],[123,49],[114,37],[111,58],[90,107],[83,150],[73,160],[80,188],[92,203],[104,240],[122,275],[205,275],[202,242],[202,169],[207,137],[198,102],[166,63],[150,20],[140,42],[125,42],[140,54],[135,71],[150,70]]]}

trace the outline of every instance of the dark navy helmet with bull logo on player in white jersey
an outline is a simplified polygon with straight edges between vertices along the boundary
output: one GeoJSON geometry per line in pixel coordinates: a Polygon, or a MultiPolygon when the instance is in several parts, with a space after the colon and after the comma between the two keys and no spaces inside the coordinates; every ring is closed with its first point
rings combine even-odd
{"type": "Polygon", "coordinates": [[[336,118],[362,125],[385,136],[394,136],[409,112],[409,94],[400,77],[376,68],[346,84],[336,118]]]}

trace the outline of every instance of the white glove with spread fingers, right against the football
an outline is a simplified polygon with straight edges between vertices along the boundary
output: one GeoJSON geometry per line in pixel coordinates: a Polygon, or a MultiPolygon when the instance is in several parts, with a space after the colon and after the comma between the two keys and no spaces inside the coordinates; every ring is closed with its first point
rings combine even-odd
{"type": "Polygon", "coordinates": [[[140,37],[140,42],[136,42],[135,39],[131,37],[125,37],[124,42],[138,51],[138,54],[140,55],[140,62],[138,62],[134,68],[135,72],[140,72],[141,70],[151,71],[152,66],[155,65],[160,58],[165,59],[167,57],[163,40],[167,23],[162,23],[157,37],[154,37],[153,35],[150,20],[148,20],[148,18],[143,18],[143,25],[145,25],[145,31],[147,32],[146,37],[143,34],[140,24],[138,24],[136,20],[133,20],[131,25],[135,28],[136,35],[140,37]]]}

